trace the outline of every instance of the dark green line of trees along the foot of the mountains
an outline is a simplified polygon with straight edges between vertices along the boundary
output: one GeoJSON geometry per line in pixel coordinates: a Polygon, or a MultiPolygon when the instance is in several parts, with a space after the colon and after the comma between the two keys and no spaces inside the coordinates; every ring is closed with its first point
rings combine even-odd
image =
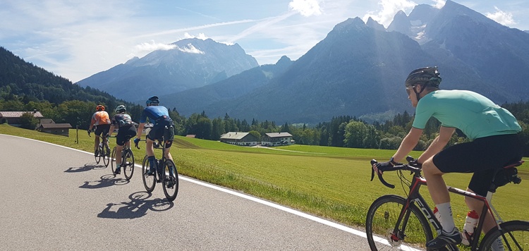
{"type": "MultiPolygon", "coordinates": [[[[45,118],[51,118],[56,123],[70,123],[75,128],[86,130],[90,125],[90,118],[95,112],[96,102],[85,102],[80,100],[68,100],[61,104],[48,101],[28,100],[26,97],[2,92],[0,89],[0,111],[40,111],[45,118]]],[[[107,106],[109,114],[114,114],[114,108],[121,104],[117,101],[107,106]],[[112,104],[113,103],[113,104],[112,104]]],[[[504,104],[506,109],[518,118],[523,128],[520,137],[525,143],[525,155],[529,156],[529,102],[518,102],[504,104]]],[[[133,121],[138,121],[143,106],[138,104],[128,105],[128,113],[133,121]]],[[[176,108],[169,109],[169,116],[174,120],[176,135],[195,135],[205,140],[219,140],[221,135],[228,132],[246,132],[255,135],[259,140],[265,133],[286,132],[293,135],[293,140],[301,145],[320,145],[330,147],[353,147],[371,149],[397,149],[413,123],[413,115],[404,111],[397,114],[391,120],[366,123],[361,119],[351,116],[336,116],[331,121],[318,123],[317,125],[289,124],[277,125],[274,121],[246,121],[231,118],[228,114],[222,117],[209,118],[205,111],[201,114],[191,114],[188,118],[178,114],[176,108]]],[[[32,121],[31,116],[27,117],[32,121]]],[[[38,121],[30,122],[27,128],[35,128],[38,121]]],[[[440,123],[434,118],[428,121],[426,128],[419,140],[415,150],[425,150],[437,137],[440,123]]],[[[449,145],[466,142],[461,131],[457,130],[449,145]]]]}

